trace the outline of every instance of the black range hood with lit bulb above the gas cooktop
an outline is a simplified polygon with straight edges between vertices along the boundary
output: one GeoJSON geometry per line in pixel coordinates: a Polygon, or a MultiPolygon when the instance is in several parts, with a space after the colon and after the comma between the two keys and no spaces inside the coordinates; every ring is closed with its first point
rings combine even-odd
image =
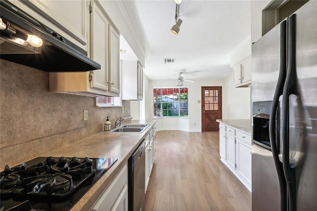
{"type": "Polygon", "coordinates": [[[48,72],[84,72],[101,65],[87,52],[7,0],[0,0],[0,58],[48,72]],[[34,47],[29,38],[43,43],[34,47]],[[28,38],[29,37],[29,38],[28,38]],[[32,45],[31,45],[32,44],[32,45]]]}

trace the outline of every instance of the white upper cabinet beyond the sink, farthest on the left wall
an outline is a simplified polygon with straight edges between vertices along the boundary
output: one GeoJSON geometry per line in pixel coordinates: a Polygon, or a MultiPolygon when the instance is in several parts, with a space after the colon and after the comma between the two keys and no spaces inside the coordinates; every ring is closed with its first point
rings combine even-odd
{"type": "Polygon", "coordinates": [[[143,99],[143,67],[137,60],[122,60],[122,100],[143,99]]]}

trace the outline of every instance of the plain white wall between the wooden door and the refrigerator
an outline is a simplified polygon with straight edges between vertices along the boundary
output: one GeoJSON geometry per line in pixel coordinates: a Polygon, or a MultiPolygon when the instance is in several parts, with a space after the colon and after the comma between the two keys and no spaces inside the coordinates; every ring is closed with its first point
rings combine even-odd
{"type": "Polygon", "coordinates": [[[225,79],[225,118],[250,119],[251,118],[251,88],[234,88],[232,75],[225,79]]]}

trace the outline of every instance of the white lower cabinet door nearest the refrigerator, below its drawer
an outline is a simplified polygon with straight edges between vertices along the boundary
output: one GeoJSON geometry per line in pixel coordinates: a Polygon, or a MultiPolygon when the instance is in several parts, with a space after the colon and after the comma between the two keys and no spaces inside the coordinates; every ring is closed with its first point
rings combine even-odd
{"type": "Polygon", "coordinates": [[[237,139],[237,171],[251,183],[251,145],[237,139]]]}

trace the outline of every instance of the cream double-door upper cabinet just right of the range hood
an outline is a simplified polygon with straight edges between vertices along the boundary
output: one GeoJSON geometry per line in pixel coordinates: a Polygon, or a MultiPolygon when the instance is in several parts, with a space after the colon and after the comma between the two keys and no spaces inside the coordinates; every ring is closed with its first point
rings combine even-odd
{"type": "Polygon", "coordinates": [[[90,57],[101,64],[101,69],[90,72],[50,72],[50,91],[119,97],[119,33],[94,1],[90,1],[90,6],[90,57]]]}

